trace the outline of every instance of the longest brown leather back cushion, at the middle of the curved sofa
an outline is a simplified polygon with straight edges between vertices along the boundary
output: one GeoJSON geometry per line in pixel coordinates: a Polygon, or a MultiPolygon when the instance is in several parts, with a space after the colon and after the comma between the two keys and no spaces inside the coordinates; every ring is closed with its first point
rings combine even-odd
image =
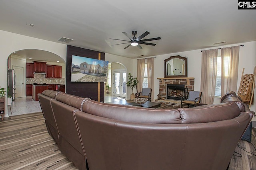
{"type": "Polygon", "coordinates": [[[182,123],[180,112],[177,109],[150,109],[86,100],[82,105],[82,111],[100,117],[133,123],[182,123]]]}

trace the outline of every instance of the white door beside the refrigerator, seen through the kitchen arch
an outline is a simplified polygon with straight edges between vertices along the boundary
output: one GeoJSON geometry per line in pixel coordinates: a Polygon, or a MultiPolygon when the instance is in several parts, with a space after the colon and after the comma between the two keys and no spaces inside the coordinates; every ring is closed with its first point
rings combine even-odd
{"type": "Polygon", "coordinates": [[[15,98],[25,97],[25,85],[24,85],[24,67],[13,66],[15,73],[15,98]]]}

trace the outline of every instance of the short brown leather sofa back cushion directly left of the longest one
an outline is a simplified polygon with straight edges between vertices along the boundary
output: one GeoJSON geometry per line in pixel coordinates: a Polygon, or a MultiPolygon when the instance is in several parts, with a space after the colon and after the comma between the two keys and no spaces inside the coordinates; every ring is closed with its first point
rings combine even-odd
{"type": "Polygon", "coordinates": [[[64,104],[67,104],[72,107],[76,107],[77,109],[81,110],[82,103],[87,100],[86,98],[81,98],[78,96],[74,96],[71,94],[66,94],[63,92],[60,92],[56,95],[55,98],[57,101],[60,101],[64,104]]]}

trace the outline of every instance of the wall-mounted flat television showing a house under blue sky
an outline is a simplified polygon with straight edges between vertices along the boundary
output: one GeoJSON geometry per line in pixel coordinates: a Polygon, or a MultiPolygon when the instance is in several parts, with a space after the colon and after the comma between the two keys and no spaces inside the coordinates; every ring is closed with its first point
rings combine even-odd
{"type": "Polygon", "coordinates": [[[72,55],[71,82],[106,82],[108,61],[72,55]]]}

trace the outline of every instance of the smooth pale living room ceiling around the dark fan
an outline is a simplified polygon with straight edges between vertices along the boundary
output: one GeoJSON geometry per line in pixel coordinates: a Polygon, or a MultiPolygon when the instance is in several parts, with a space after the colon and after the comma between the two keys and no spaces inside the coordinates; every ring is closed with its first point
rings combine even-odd
{"type": "Polygon", "coordinates": [[[0,29],[129,58],[204,49],[256,40],[256,10],[235,0],[0,0],[0,29]],[[34,24],[34,27],[30,26],[34,24]],[[132,31],[156,46],[128,47],[132,31]],[[226,41],[224,44],[213,43],[226,41]]]}

